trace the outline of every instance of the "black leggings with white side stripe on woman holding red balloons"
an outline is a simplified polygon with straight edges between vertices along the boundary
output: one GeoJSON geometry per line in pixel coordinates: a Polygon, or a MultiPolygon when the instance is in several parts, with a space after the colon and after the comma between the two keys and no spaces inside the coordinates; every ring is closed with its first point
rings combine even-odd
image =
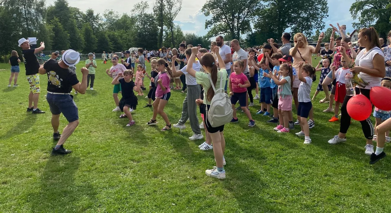
{"type": "MultiPolygon", "coordinates": [[[[356,87],[356,94],[362,94],[365,97],[369,98],[369,92],[370,89],[360,89],[356,87]]],[[[342,107],[341,107],[341,126],[339,127],[339,132],[346,134],[348,132],[349,126],[350,126],[350,116],[348,114],[348,111],[346,110],[346,104],[348,104],[348,101],[353,96],[345,96],[345,99],[343,101],[342,107]]],[[[373,128],[370,116],[366,120],[360,121],[362,132],[364,132],[364,136],[366,139],[372,139],[373,134],[375,133],[375,129],[373,128]]]]}

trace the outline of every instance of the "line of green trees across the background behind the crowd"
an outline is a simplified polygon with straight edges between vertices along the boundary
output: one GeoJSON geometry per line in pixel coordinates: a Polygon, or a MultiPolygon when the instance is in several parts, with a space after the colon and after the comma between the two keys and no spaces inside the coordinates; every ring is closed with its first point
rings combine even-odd
{"type": "MultiPolygon", "coordinates": [[[[70,7],[66,0],[56,0],[53,5],[45,5],[45,0],[0,0],[0,55],[17,49],[17,41],[22,37],[45,41],[46,50],[72,48],[84,53],[130,47],[156,50],[176,47],[183,40],[208,47],[209,38],[221,34],[225,40],[240,39],[244,47],[253,47],[268,38],[278,42],[287,28],[291,34],[303,32],[308,38],[317,38],[325,28],[323,20],[329,10],[324,0],[208,0],[201,11],[210,17],[205,22],[209,31],[198,36],[183,33],[174,24],[182,0],[155,0],[153,5],[153,12],[148,13],[147,2],[138,2],[129,15],[113,10],[100,14],[91,8],[81,11],[70,7]]],[[[374,26],[386,38],[391,29],[390,0],[356,0],[348,10],[359,20],[353,27],[374,26]]],[[[326,30],[325,42],[331,31],[326,30]]]]}

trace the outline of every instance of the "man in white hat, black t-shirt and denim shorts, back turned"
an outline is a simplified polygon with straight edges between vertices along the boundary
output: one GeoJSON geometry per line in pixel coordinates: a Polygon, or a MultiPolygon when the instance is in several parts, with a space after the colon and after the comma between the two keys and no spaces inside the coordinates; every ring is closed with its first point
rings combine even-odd
{"type": "Polygon", "coordinates": [[[81,83],[77,80],[76,72],[71,70],[80,61],[80,54],[75,50],[66,50],[62,55],[62,60],[57,62],[54,53],[52,59],[48,60],[39,68],[39,74],[47,74],[48,87],[46,100],[52,112],[53,139],[58,140],[56,147],[53,148],[52,154],[69,154],[72,151],[63,147],[66,139],[74,132],[79,125],[79,112],[70,95],[72,88],[81,94],[86,93],[88,69],[81,68],[83,79],[81,83]],[[60,114],[63,113],[68,125],[61,135],[58,131],[60,125],[60,114]]]}

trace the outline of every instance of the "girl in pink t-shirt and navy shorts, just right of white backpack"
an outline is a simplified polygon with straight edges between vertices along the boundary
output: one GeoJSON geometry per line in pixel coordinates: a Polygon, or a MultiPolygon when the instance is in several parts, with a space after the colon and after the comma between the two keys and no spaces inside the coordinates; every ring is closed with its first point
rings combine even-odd
{"type": "Polygon", "coordinates": [[[233,63],[233,71],[230,75],[230,79],[228,82],[229,88],[230,88],[230,96],[231,96],[231,104],[233,109],[233,118],[231,122],[236,123],[239,121],[238,117],[236,116],[236,109],[235,104],[239,100],[240,108],[246,113],[248,119],[250,120],[248,126],[253,127],[255,126],[255,120],[251,117],[251,113],[249,109],[247,108],[246,104],[246,93],[247,88],[250,86],[250,82],[247,79],[246,75],[243,74],[242,70],[244,67],[243,61],[235,61],[233,63]]]}

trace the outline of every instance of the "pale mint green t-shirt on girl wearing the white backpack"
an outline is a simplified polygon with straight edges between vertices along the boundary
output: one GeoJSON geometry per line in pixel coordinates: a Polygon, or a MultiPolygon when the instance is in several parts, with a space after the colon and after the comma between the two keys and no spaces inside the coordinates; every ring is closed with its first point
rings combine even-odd
{"type": "MultiPolygon", "coordinates": [[[[225,82],[227,81],[227,70],[226,69],[221,69],[220,71],[217,71],[217,82],[216,82],[216,86],[215,86],[215,89],[219,89],[222,87],[222,91],[221,92],[224,92],[224,86],[225,86],[225,82]],[[220,85],[220,78],[221,78],[221,75],[222,76],[222,84],[220,85]]],[[[202,84],[202,86],[204,87],[204,104],[207,104],[207,105],[210,105],[210,101],[207,100],[207,93],[208,93],[208,89],[210,87],[212,87],[212,84],[210,84],[210,80],[208,78],[208,73],[205,73],[205,72],[196,72],[195,73],[195,80],[197,80],[197,84],[202,84]]]]}

